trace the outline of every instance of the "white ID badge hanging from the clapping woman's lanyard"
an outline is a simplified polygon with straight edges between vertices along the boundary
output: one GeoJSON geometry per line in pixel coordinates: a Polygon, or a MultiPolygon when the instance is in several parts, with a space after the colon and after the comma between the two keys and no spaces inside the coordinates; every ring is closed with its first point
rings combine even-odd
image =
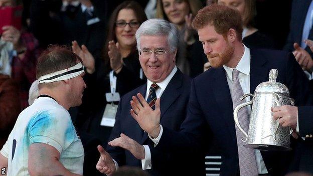
{"type": "Polygon", "coordinates": [[[117,111],[117,106],[115,104],[106,104],[104,113],[102,116],[101,126],[113,127],[115,123],[115,114],[117,111]]]}

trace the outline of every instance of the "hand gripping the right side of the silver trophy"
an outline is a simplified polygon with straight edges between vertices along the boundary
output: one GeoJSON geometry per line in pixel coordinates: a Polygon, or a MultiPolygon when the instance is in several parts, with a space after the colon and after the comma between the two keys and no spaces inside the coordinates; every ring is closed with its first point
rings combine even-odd
{"type": "Polygon", "coordinates": [[[281,126],[289,126],[292,129],[296,129],[297,126],[297,116],[298,116],[298,107],[284,105],[272,107],[271,111],[273,112],[274,120],[278,119],[281,126]]]}

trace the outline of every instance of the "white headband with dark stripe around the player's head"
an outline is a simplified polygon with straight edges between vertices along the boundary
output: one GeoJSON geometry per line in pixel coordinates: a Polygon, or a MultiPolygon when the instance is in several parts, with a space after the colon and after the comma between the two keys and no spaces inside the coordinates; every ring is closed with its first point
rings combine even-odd
{"type": "Polygon", "coordinates": [[[74,65],[73,67],[64,69],[64,70],[60,70],[60,71],[56,71],[53,73],[49,73],[47,75],[43,75],[41,77],[38,78],[38,84],[40,83],[52,83],[52,82],[56,82],[56,81],[63,81],[63,80],[68,80],[71,78],[74,78],[78,75],[80,75],[81,73],[85,73],[84,68],[82,63],[78,63],[76,65],[74,65]]]}

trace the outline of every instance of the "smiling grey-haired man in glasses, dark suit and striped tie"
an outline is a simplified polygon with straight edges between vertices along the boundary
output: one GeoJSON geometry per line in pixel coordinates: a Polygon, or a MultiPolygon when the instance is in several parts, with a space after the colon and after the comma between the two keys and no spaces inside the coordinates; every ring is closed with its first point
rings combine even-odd
{"type": "Polygon", "coordinates": [[[175,66],[178,39],[176,27],[165,20],[151,19],[138,28],[139,61],[147,83],[125,94],[119,101],[107,152],[98,146],[101,157],[96,168],[100,172],[110,174],[117,166],[129,165],[147,169],[151,175],[205,174],[204,156],[197,158],[201,155],[193,156],[191,151],[176,155],[155,150],[148,134],[130,115],[129,102],[140,93],[149,102],[149,107],[158,109],[155,112],[160,115],[159,122],[163,126],[179,130],[187,113],[191,79],[175,66]],[[161,107],[155,106],[156,98],[162,102],[161,107]],[[196,172],[184,169],[187,166],[192,166],[196,172]]]}

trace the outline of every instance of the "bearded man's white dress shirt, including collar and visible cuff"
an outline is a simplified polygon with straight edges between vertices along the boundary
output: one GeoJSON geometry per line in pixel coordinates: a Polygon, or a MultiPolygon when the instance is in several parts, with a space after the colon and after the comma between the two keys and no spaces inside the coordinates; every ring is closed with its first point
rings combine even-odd
{"type": "MultiPolygon", "coordinates": [[[[242,87],[242,91],[244,94],[250,93],[250,60],[251,60],[251,56],[250,56],[250,49],[247,48],[244,45],[244,53],[243,56],[241,57],[236,69],[239,71],[239,75],[238,75],[238,79],[240,82],[240,85],[242,87]]],[[[228,87],[229,90],[231,92],[232,87],[230,85],[232,85],[232,72],[233,72],[233,68],[229,68],[226,66],[223,66],[225,71],[226,71],[226,78],[227,78],[227,83],[228,83],[228,87]]],[[[247,97],[245,99],[246,101],[250,101],[250,97],[247,97]]],[[[248,116],[250,116],[251,114],[251,107],[248,106],[248,116]]],[[[235,124],[234,124],[235,125],[235,124]]],[[[158,145],[162,133],[163,133],[163,127],[161,126],[161,130],[160,130],[160,134],[158,137],[156,138],[151,138],[151,136],[149,135],[150,139],[154,142],[155,145],[158,145]]],[[[268,173],[265,163],[263,161],[262,155],[260,153],[260,150],[254,150],[255,151],[255,159],[256,159],[256,165],[257,165],[257,169],[258,169],[258,173],[262,174],[262,173],[268,173]]]]}

